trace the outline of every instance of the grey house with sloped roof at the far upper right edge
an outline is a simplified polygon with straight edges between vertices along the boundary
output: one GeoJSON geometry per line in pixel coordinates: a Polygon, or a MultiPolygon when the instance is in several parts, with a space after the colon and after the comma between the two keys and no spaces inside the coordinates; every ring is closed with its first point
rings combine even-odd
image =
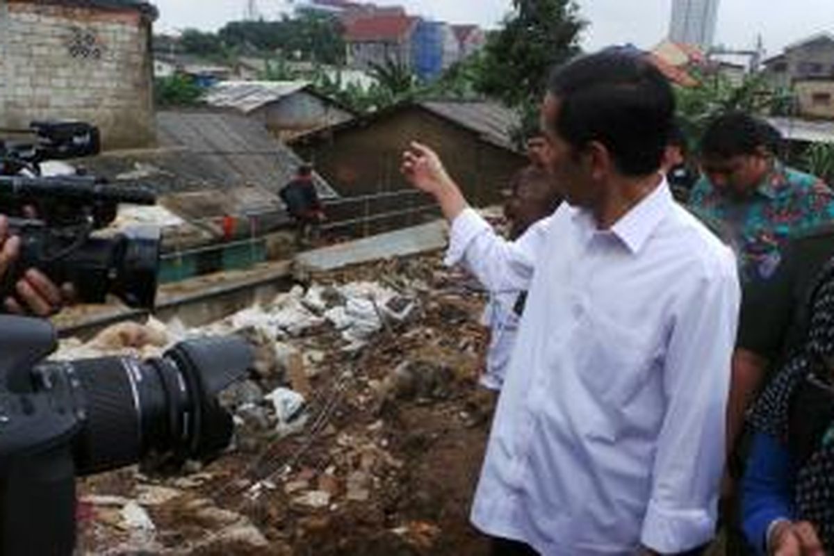
{"type": "Polygon", "coordinates": [[[816,33],[787,46],[763,65],[768,80],[778,88],[790,88],[797,79],[834,78],[834,35],[816,33]]]}

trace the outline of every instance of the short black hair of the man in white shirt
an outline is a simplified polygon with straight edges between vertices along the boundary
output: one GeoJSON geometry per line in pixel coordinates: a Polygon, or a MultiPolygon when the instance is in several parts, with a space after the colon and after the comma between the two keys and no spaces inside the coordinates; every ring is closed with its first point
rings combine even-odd
{"type": "Polygon", "coordinates": [[[572,147],[602,143],[626,176],[661,167],[675,95],[645,54],[606,48],[577,58],[555,69],[548,90],[560,101],[555,131],[572,147]]]}

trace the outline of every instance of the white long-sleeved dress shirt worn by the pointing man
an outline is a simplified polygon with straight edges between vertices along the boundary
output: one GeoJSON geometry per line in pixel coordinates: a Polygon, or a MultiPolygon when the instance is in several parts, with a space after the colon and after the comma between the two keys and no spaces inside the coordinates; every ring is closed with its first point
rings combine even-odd
{"type": "Polygon", "coordinates": [[[508,243],[475,211],[448,264],[529,290],[472,521],[539,553],[661,553],[712,538],[736,263],[661,186],[607,231],[563,204],[508,243]]]}

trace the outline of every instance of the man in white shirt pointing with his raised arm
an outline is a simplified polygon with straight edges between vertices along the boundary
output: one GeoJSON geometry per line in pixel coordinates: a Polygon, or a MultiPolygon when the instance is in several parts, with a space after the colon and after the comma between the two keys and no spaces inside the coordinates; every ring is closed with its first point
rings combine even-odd
{"type": "Polygon", "coordinates": [[[659,173],[674,110],[631,53],[558,69],[542,125],[566,203],[515,243],[429,148],[404,153],[452,223],[448,263],[529,291],[472,508],[496,554],[691,553],[713,536],[739,286],[659,173]]]}

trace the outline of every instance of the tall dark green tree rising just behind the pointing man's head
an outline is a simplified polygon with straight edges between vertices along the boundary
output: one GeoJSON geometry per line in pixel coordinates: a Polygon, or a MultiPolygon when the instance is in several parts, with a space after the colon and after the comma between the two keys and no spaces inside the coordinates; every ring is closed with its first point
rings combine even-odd
{"type": "Polygon", "coordinates": [[[573,0],[513,0],[513,8],[487,40],[475,88],[531,113],[545,93],[550,68],[580,52],[585,22],[573,0]]]}

